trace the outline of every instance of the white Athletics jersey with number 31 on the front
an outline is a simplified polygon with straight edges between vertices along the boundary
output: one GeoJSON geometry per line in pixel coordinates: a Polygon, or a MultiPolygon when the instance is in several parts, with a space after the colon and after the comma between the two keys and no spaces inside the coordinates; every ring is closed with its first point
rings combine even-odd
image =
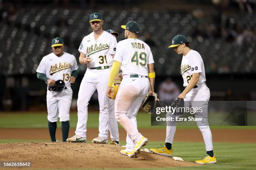
{"type": "Polygon", "coordinates": [[[93,32],[85,36],[78,49],[86,57],[91,57],[92,62],[87,64],[87,68],[99,66],[111,66],[115,54],[117,41],[110,33],[104,31],[97,40],[95,40],[93,32]]]}

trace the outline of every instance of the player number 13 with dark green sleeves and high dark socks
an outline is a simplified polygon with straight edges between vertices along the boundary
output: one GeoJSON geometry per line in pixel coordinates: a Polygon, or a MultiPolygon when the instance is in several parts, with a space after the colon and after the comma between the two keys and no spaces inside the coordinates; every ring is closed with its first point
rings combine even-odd
{"type": "Polygon", "coordinates": [[[60,92],[47,88],[48,127],[51,141],[56,142],[55,133],[57,120],[61,122],[62,141],[66,142],[69,135],[69,109],[72,100],[70,83],[74,83],[79,73],[77,60],[74,55],[64,52],[64,43],[60,37],[51,40],[52,53],[41,60],[36,70],[37,77],[44,80],[48,87],[56,80],[63,80],[65,87],[60,92]]]}

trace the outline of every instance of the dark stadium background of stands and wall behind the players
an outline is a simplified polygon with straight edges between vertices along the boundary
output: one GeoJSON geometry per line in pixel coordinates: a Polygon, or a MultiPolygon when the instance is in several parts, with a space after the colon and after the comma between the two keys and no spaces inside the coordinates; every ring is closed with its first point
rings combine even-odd
{"type": "MultiPolygon", "coordinates": [[[[104,30],[120,33],[118,41],[120,25],[140,24],[139,38],[154,55],[156,91],[167,77],[183,89],[182,56],[167,48],[183,34],[202,55],[210,100],[256,100],[255,0],[0,0],[0,111],[46,110],[46,84],[36,68],[54,37],[62,37],[78,61],[93,12],[102,13],[104,30]]],[[[86,67],[79,69],[73,99],[86,67]]],[[[97,106],[97,98],[90,105],[97,106]]]]}

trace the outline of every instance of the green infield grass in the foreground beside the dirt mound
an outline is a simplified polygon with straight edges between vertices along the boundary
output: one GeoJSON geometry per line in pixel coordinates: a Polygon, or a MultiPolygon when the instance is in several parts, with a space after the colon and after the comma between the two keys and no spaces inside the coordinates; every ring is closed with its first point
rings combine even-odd
{"type": "MultiPolygon", "coordinates": [[[[3,142],[25,142],[28,140],[0,140],[3,142]]],[[[39,140],[38,140],[39,141],[39,140]]],[[[35,141],[33,141],[35,142],[35,141]]],[[[122,142],[124,143],[124,142],[122,142]]],[[[163,144],[161,142],[148,142],[146,148],[156,148],[163,144]]],[[[144,147],[145,148],[145,147],[144,147]]],[[[204,143],[177,142],[173,144],[174,156],[181,157],[185,161],[194,162],[205,155],[204,143]]],[[[256,144],[255,143],[214,143],[214,153],[217,163],[202,165],[200,167],[186,168],[133,168],[134,170],[254,170],[256,167],[256,144]]],[[[171,158],[170,158],[171,159],[171,158]]],[[[69,169],[71,170],[71,169],[69,169]]],[[[80,169],[82,170],[82,169],[80,169]]],[[[110,169],[104,169],[110,170],[110,169]]],[[[120,168],[115,170],[131,170],[120,168]]]]}

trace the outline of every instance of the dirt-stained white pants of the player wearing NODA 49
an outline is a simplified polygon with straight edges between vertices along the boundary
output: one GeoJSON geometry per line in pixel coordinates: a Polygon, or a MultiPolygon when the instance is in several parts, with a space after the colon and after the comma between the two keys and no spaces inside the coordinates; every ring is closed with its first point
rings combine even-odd
{"type": "Polygon", "coordinates": [[[115,98],[115,118],[127,132],[126,149],[128,151],[133,150],[135,142],[142,137],[137,129],[136,115],[148,93],[148,88],[148,78],[144,76],[130,78],[130,75],[123,75],[115,98]]]}

